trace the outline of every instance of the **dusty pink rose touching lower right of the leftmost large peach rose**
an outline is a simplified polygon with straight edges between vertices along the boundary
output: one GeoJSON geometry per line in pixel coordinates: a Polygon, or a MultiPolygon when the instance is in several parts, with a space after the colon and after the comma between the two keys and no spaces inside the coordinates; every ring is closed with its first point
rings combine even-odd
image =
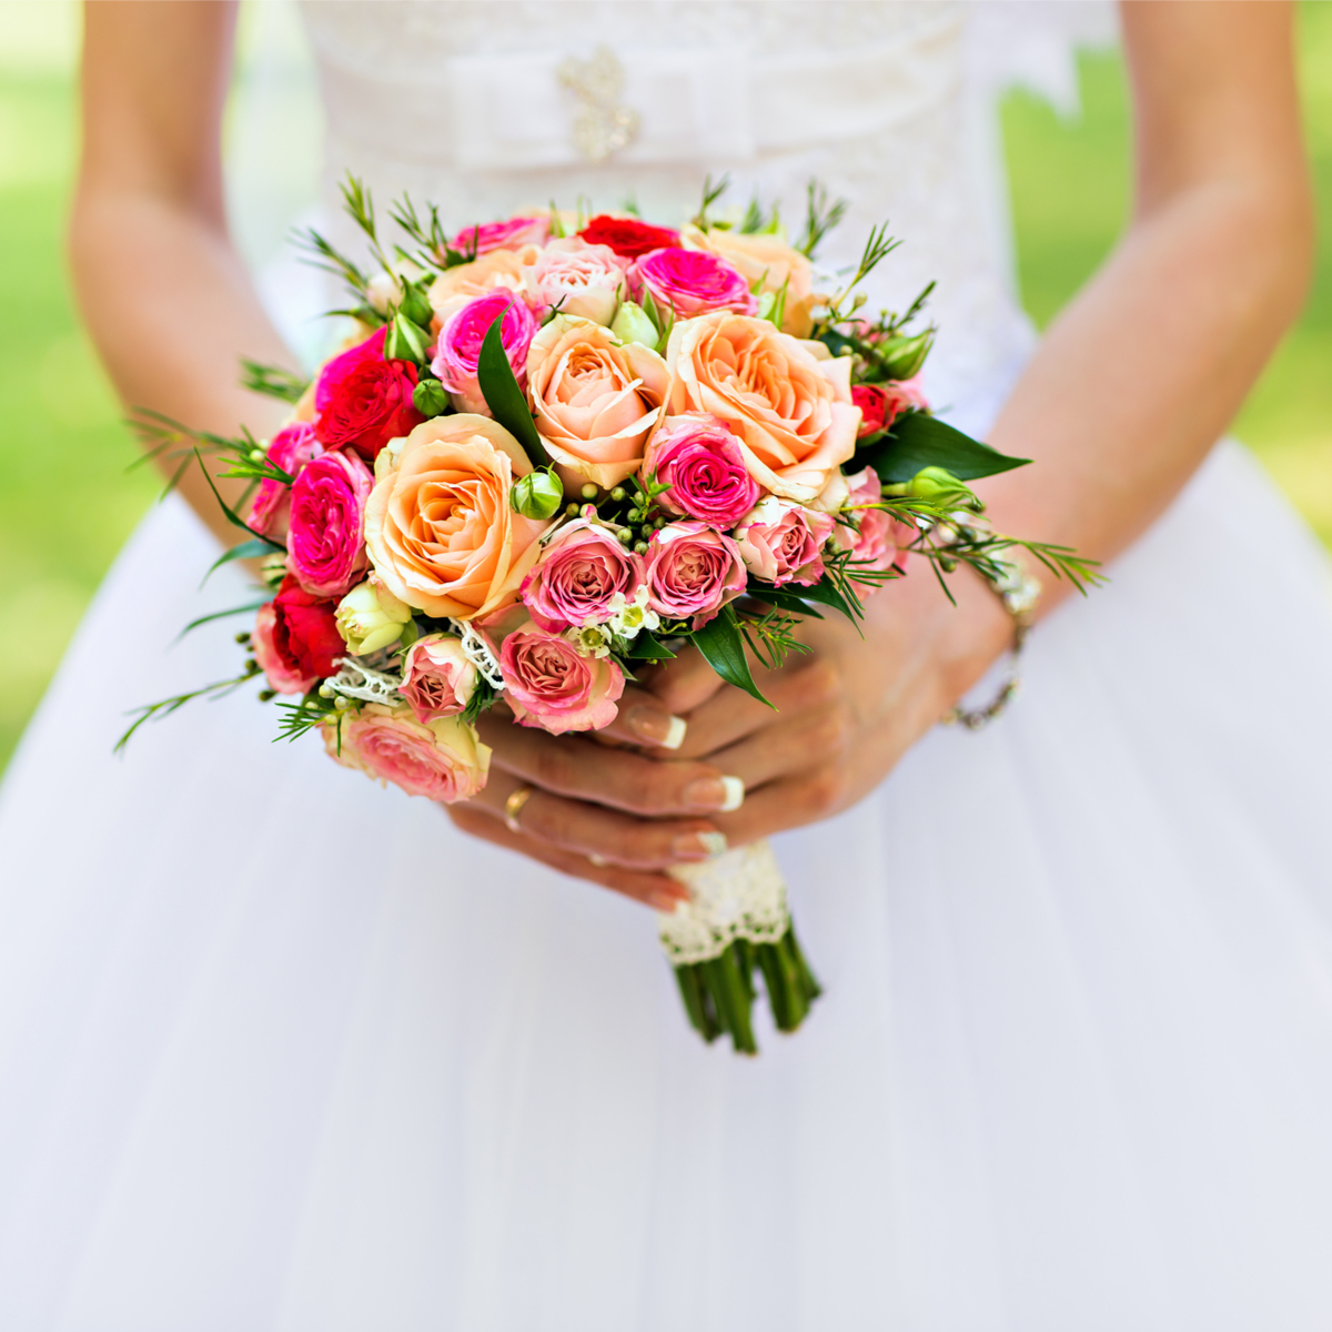
{"type": "Polygon", "coordinates": [[[531,618],[553,634],[599,625],[611,617],[617,593],[633,601],[643,581],[642,559],[614,533],[578,518],[551,538],[522,585],[531,618]]]}

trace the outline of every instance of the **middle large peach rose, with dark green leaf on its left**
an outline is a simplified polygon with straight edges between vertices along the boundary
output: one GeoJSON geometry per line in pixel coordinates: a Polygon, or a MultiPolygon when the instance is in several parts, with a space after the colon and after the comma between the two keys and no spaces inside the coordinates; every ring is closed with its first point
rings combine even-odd
{"type": "Polygon", "coordinates": [[[531,414],[546,452],[561,472],[603,489],[638,470],[669,386],[666,362],[651,348],[621,345],[591,320],[557,314],[527,353],[531,414]]]}

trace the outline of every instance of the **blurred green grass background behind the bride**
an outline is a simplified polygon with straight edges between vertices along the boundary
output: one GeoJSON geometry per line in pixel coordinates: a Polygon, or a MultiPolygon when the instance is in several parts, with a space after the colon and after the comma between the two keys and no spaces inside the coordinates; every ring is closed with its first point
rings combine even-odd
{"type": "MultiPolygon", "coordinates": [[[[88,598],[157,482],[87,340],[61,236],[76,157],[69,0],[0,3],[0,766],[88,598]],[[52,523],[59,494],[71,527],[52,523]]],[[[1300,9],[1300,75],[1321,201],[1319,273],[1299,326],[1236,430],[1332,543],[1332,5],[1300,9]]],[[[1080,60],[1083,108],[1060,120],[1015,93],[1004,105],[1023,298],[1046,324],[1114,242],[1128,202],[1128,111],[1118,56],[1080,60]]]]}

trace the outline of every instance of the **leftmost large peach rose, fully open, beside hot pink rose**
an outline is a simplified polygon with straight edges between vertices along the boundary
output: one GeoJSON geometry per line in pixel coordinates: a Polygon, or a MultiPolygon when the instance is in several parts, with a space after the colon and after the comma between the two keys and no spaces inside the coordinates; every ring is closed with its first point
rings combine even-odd
{"type": "Polygon", "coordinates": [[[468,413],[436,417],[394,440],[374,470],[365,543],[394,597],[456,619],[517,598],[547,523],[509,507],[514,477],[531,464],[503,426],[468,413]]]}

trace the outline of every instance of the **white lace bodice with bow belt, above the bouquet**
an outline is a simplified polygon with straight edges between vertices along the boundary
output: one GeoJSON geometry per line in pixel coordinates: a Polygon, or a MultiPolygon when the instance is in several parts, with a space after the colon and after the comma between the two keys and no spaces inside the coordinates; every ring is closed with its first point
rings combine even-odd
{"type": "MultiPolygon", "coordinates": [[[[990,8],[1011,20],[1018,7],[990,8]]],[[[821,250],[825,266],[854,262],[870,228],[888,220],[903,245],[871,300],[900,308],[938,280],[936,402],[983,425],[1030,349],[984,96],[995,43],[978,43],[964,4],[306,0],[302,9],[330,198],[352,170],[381,202],[404,189],[434,200],[453,226],[579,197],[594,209],[633,198],[675,224],[697,208],[705,174],[729,172],[729,202],[781,200],[798,225],[817,176],[850,202],[821,250]],[[574,137],[577,89],[559,72],[598,48],[623,71],[615,101],[638,128],[593,163],[574,137]]]]}

